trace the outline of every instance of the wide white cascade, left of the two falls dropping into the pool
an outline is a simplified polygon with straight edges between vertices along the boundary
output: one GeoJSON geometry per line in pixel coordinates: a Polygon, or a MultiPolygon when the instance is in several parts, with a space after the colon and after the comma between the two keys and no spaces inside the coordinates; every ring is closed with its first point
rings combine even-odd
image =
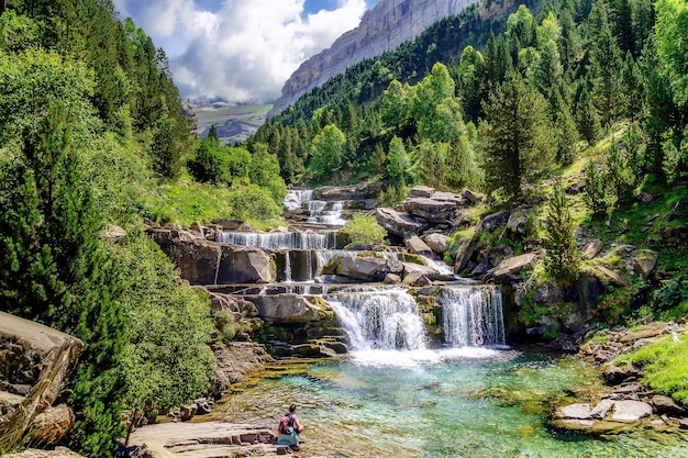
{"type": "Polygon", "coordinates": [[[418,305],[401,289],[326,297],[352,348],[422,350],[428,344],[418,305]]]}

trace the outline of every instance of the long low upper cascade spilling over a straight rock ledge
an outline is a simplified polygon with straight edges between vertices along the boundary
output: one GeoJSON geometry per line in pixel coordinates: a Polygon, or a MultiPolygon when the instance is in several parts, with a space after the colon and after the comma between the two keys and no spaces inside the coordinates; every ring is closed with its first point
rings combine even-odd
{"type": "Polygon", "coordinates": [[[334,247],[334,233],[284,232],[255,233],[224,231],[218,234],[218,242],[243,245],[254,248],[278,249],[328,249],[334,247]]]}

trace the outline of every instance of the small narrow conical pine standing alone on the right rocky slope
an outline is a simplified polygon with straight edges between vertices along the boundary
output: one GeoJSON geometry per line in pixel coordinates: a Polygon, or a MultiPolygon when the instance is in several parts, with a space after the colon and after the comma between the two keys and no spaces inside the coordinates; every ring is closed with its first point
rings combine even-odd
{"type": "Polygon", "coordinates": [[[547,204],[545,231],[545,270],[556,279],[576,278],[579,264],[578,247],[566,192],[559,178],[554,182],[554,193],[547,204]]]}

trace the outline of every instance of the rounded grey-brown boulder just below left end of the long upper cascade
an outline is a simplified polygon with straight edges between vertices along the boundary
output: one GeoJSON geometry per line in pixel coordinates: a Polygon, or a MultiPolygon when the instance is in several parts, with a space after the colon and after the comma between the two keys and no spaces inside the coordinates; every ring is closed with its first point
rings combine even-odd
{"type": "Polygon", "coordinates": [[[259,248],[221,244],[215,283],[269,283],[277,272],[269,256],[259,248]]]}

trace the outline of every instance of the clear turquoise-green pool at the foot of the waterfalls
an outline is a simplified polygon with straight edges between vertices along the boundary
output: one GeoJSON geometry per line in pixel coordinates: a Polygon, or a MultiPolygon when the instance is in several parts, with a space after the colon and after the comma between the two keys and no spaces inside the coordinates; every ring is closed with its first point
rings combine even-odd
{"type": "Polygon", "coordinates": [[[596,370],[568,357],[367,351],[264,378],[222,409],[235,422],[277,425],[296,402],[303,457],[688,457],[686,435],[648,428],[595,439],[546,427],[569,390],[599,383],[596,370]]]}

